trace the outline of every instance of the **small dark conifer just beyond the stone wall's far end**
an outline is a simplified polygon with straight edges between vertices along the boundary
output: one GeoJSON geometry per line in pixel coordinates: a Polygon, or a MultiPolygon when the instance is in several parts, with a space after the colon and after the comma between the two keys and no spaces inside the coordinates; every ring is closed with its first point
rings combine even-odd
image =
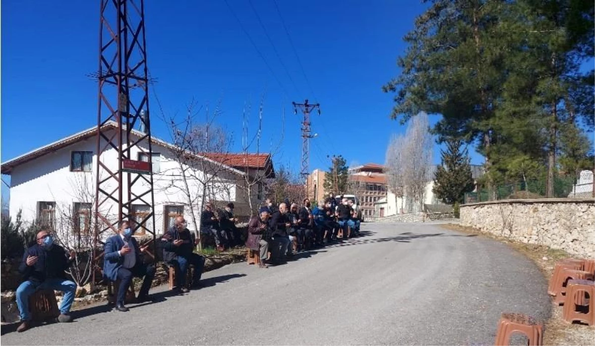
{"type": "Polygon", "coordinates": [[[469,155],[466,149],[461,151],[461,145],[461,140],[446,141],[446,150],[441,150],[441,165],[434,177],[434,194],[449,205],[462,203],[465,193],[475,188],[469,155]]]}

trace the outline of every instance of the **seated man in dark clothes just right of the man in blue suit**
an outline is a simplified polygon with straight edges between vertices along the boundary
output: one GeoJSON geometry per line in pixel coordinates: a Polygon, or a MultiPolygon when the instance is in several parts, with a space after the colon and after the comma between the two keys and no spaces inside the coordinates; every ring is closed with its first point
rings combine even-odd
{"type": "Polygon", "coordinates": [[[187,293],[186,273],[189,265],[194,265],[192,288],[199,288],[205,259],[193,252],[198,245],[196,235],[186,228],[184,216],[176,216],[176,224],[161,237],[163,246],[163,262],[176,270],[176,289],[187,293]]]}

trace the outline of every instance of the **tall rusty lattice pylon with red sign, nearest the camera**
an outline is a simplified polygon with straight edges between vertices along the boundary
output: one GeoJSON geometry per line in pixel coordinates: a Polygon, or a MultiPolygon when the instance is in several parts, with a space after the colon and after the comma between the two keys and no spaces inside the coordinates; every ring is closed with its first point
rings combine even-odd
{"type": "Polygon", "coordinates": [[[100,11],[95,246],[121,221],[155,240],[144,4],[101,0],[100,11]]]}

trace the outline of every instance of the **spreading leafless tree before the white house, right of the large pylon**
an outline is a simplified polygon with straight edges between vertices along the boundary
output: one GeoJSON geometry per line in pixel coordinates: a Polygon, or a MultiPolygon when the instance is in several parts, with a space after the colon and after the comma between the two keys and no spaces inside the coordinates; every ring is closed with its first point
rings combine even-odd
{"type": "MultiPolygon", "coordinates": [[[[211,115],[208,108],[205,111],[205,122],[197,122],[200,112],[195,112],[195,102],[187,106],[186,117],[176,122],[175,117],[164,120],[170,130],[173,146],[168,146],[177,168],[170,172],[162,172],[168,181],[162,189],[179,192],[184,201],[178,201],[187,207],[195,225],[195,234],[201,240],[200,213],[207,202],[207,197],[216,199],[218,191],[225,191],[221,185],[233,180],[231,175],[240,173],[230,168],[229,148],[231,137],[227,136],[223,128],[215,124],[215,118],[220,115],[217,107],[211,115]]],[[[161,183],[159,183],[161,184],[161,183]]],[[[199,249],[201,249],[199,241],[199,249]]]]}

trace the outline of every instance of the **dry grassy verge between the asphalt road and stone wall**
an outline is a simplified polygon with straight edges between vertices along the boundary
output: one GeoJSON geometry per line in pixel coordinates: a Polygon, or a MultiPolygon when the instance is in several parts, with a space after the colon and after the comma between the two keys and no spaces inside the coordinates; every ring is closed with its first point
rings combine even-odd
{"type": "MultiPolygon", "coordinates": [[[[502,243],[506,243],[513,249],[527,256],[536,263],[547,281],[552,278],[556,262],[566,258],[576,258],[563,250],[550,249],[550,247],[536,244],[525,244],[519,241],[513,241],[505,237],[484,233],[475,228],[464,227],[458,224],[443,224],[443,228],[451,231],[477,234],[482,237],[491,238],[502,243]]],[[[593,346],[595,345],[595,328],[572,325],[562,319],[563,307],[552,304],[552,317],[546,322],[543,334],[543,344],[547,346],[593,346]]]]}

